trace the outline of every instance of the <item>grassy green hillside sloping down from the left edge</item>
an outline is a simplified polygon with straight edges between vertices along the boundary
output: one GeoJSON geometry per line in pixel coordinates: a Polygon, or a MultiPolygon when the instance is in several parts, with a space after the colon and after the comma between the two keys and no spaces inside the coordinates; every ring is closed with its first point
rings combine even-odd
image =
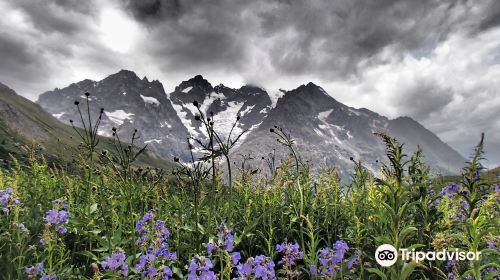
{"type": "MultiPolygon", "coordinates": [[[[4,165],[9,154],[26,158],[26,145],[36,141],[51,163],[68,163],[80,143],[74,129],[45,112],[38,104],[19,96],[0,83],[0,159],[4,165]]],[[[100,138],[100,147],[112,150],[110,139],[100,138]]],[[[138,158],[140,165],[171,167],[172,164],[147,152],[138,158]]]]}

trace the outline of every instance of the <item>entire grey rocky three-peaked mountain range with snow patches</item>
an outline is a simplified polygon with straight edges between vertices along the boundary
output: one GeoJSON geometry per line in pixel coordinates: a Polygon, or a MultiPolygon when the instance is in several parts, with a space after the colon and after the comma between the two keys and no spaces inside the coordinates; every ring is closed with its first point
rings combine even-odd
{"type": "Polygon", "coordinates": [[[374,132],[395,136],[405,143],[408,154],[421,147],[435,172],[456,173],[464,162],[456,151],[411,118],[390,120],[368,109],[348,107],[313,83],[285,92],[272,107],[269,95],[259,87],[214,87],[198,75],[166,94],[160,82],[149,82],[122,70],[99,82],[84,80],[46,92],[38,103],[59,120],[73,119],[78,125],[81,122],[74,101],[80,100],[82,106],[85,92],[91,93],[92,115],[97,116],[101,107],[105,109],[101,134],[109,135],[112,127],[118,128],[119,135],[138,129],[141,143],[163,158],[187,159],[186,138],[206,137],[201,122],[195,120],[199,114],[193,105],[196,101],[203,114],[213,113],[215,129],[223,137],[240,117],[232,135],[246,133],[233,150],[235,160],[240,158],[236,155],[247,154],[260,159],[274,148],[278,156],[285,156],[276,136],[269,132],[276,125],[291,134],[303,159],[316,169],[335,165],[347,174],[352,170],[352,157],[377,172],[386,157],[385,146],[374,132]]]}

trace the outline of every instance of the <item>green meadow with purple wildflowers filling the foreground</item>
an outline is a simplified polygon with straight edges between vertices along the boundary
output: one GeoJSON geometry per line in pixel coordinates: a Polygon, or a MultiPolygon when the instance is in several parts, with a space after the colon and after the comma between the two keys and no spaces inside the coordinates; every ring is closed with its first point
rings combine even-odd
{"type": "Polygon", "coordinates": [[[431,176],[421,151],[406,155],[380,133],[387,163],[371,174],[353,160],[343,182],[334,167],[314,174],[279,127],[270,133],[289,149],[287,160],[271,153],[266,172],[231,170],[214,159],[231,162],[239,136],[222,139],[200,112],[209,141],[188,148],[200,145],[206,156],[175,158],[171,172],[134,164],[144,151],[135,134],[130,145],[115,134],[115,149],[102,150],[99,120],[75,129],[76,170],[47,163],[36,145],[26,163],[12,158],[0,170],[1,279],[500,277],[500,186],[483,175],[482,141],[449,182],[431,176]],[[382,267],[374,257],[381,244],[481,258],[382,267]]]}

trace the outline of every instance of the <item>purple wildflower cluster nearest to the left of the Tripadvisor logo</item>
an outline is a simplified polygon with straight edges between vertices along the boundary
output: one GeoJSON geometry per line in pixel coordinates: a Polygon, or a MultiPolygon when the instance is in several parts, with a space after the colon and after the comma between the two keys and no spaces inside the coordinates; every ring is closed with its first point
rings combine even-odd
{"type": "MultiPolygon", "coordinates": [[[[319,251],[319,267],[311,266],[311,274],[321,278],[334,277],[341,269],[345,253],[348,250],[349,246],[343,240],[336,241],[332,248],[321,249],[319,251]]],[[[352,265],[354,262],[352,261],[352,265]]]]}

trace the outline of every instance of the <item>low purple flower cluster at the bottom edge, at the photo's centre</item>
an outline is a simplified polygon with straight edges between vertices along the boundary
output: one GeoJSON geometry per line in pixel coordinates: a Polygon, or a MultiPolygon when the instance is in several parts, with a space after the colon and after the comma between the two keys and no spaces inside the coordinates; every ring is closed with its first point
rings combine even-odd
{"type": "Polygon", "coordinates": [[[238,279],[263,279],[270,280],[276,279],[276,274],[274,271],[274,262],[271,258],[266,256],[256,256],[255,258],[249,258],[246,263],[239,264],[238,269],[238,279]]]}

